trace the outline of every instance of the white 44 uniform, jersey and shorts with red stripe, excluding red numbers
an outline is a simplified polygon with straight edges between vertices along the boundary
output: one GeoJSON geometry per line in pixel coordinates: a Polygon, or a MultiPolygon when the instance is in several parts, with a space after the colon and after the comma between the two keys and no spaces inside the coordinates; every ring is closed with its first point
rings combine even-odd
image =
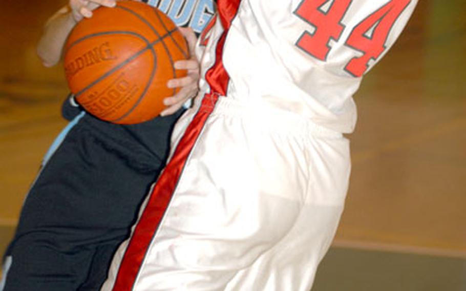
{"type": "MultiPolygon", "coordinates": [[[[349,1],[340,41],[403,1],[389,47],[416,1],[349,1]]],[[[295,11],[309,2],[319,0],[218,1],[201,39],[200,97],[177,123],[170,162],[102,290],[310,289],[343,211],[342,132],[354,127],[361,78],[345,71],[357,51],[331,43],[321,61],[296,47],[309,25],[295,11]]]]}

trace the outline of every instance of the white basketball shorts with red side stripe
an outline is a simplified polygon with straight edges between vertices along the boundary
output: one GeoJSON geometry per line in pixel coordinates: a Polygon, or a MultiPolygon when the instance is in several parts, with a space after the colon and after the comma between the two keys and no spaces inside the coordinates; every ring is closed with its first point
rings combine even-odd
{"type": "Polygon", "coordinates": [[[103,290],[310,289],[343,211],[349,142],[298,115],[218,98],[178,122],[103,290]]]}

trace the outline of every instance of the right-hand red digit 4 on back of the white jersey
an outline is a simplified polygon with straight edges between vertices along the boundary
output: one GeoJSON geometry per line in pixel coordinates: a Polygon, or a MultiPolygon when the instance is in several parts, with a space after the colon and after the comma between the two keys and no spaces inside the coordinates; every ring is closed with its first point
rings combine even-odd
{"type": "Polygon", "coordinates": [[[346,45],[362,52],[361,57],[351,59],[345,70],[356,77],[361,77],[368,69],[370,59],[376,60],[387,48],[387,37],[401,12],[410,0],[392,0],[378,9],[351,32],[346,45]]]}

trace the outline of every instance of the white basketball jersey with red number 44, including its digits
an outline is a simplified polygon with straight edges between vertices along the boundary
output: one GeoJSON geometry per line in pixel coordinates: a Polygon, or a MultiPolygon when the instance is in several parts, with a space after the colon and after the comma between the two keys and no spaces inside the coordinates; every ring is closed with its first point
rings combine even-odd
{"type": "Polygon", "coordinates": [[[227,90],[216,92],[209,84],[218,80],[205,76],[201,93],[280,108],[350,133],[356,122],[352,96],[361,77],[393,45],[416,3],[219,0],[215,23],[201,35],[205,50],[198,53],[205,76],[220,57],[218,42],[226,35],[221,60],[229,76],[227,90]]]}

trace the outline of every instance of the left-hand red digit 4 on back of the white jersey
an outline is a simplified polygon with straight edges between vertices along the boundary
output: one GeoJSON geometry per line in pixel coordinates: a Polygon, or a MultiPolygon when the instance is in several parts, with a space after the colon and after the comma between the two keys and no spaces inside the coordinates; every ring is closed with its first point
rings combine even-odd
{"type": "Polygon", "coordinates": [[[303,0],[294,11],[305,22],[314,27],[314,32],[305,31],[296,45],[313,57],[326,60],[330,52],[330,39],[338,40],[345,26],[345,16],[351,0],[303,0]]]}

